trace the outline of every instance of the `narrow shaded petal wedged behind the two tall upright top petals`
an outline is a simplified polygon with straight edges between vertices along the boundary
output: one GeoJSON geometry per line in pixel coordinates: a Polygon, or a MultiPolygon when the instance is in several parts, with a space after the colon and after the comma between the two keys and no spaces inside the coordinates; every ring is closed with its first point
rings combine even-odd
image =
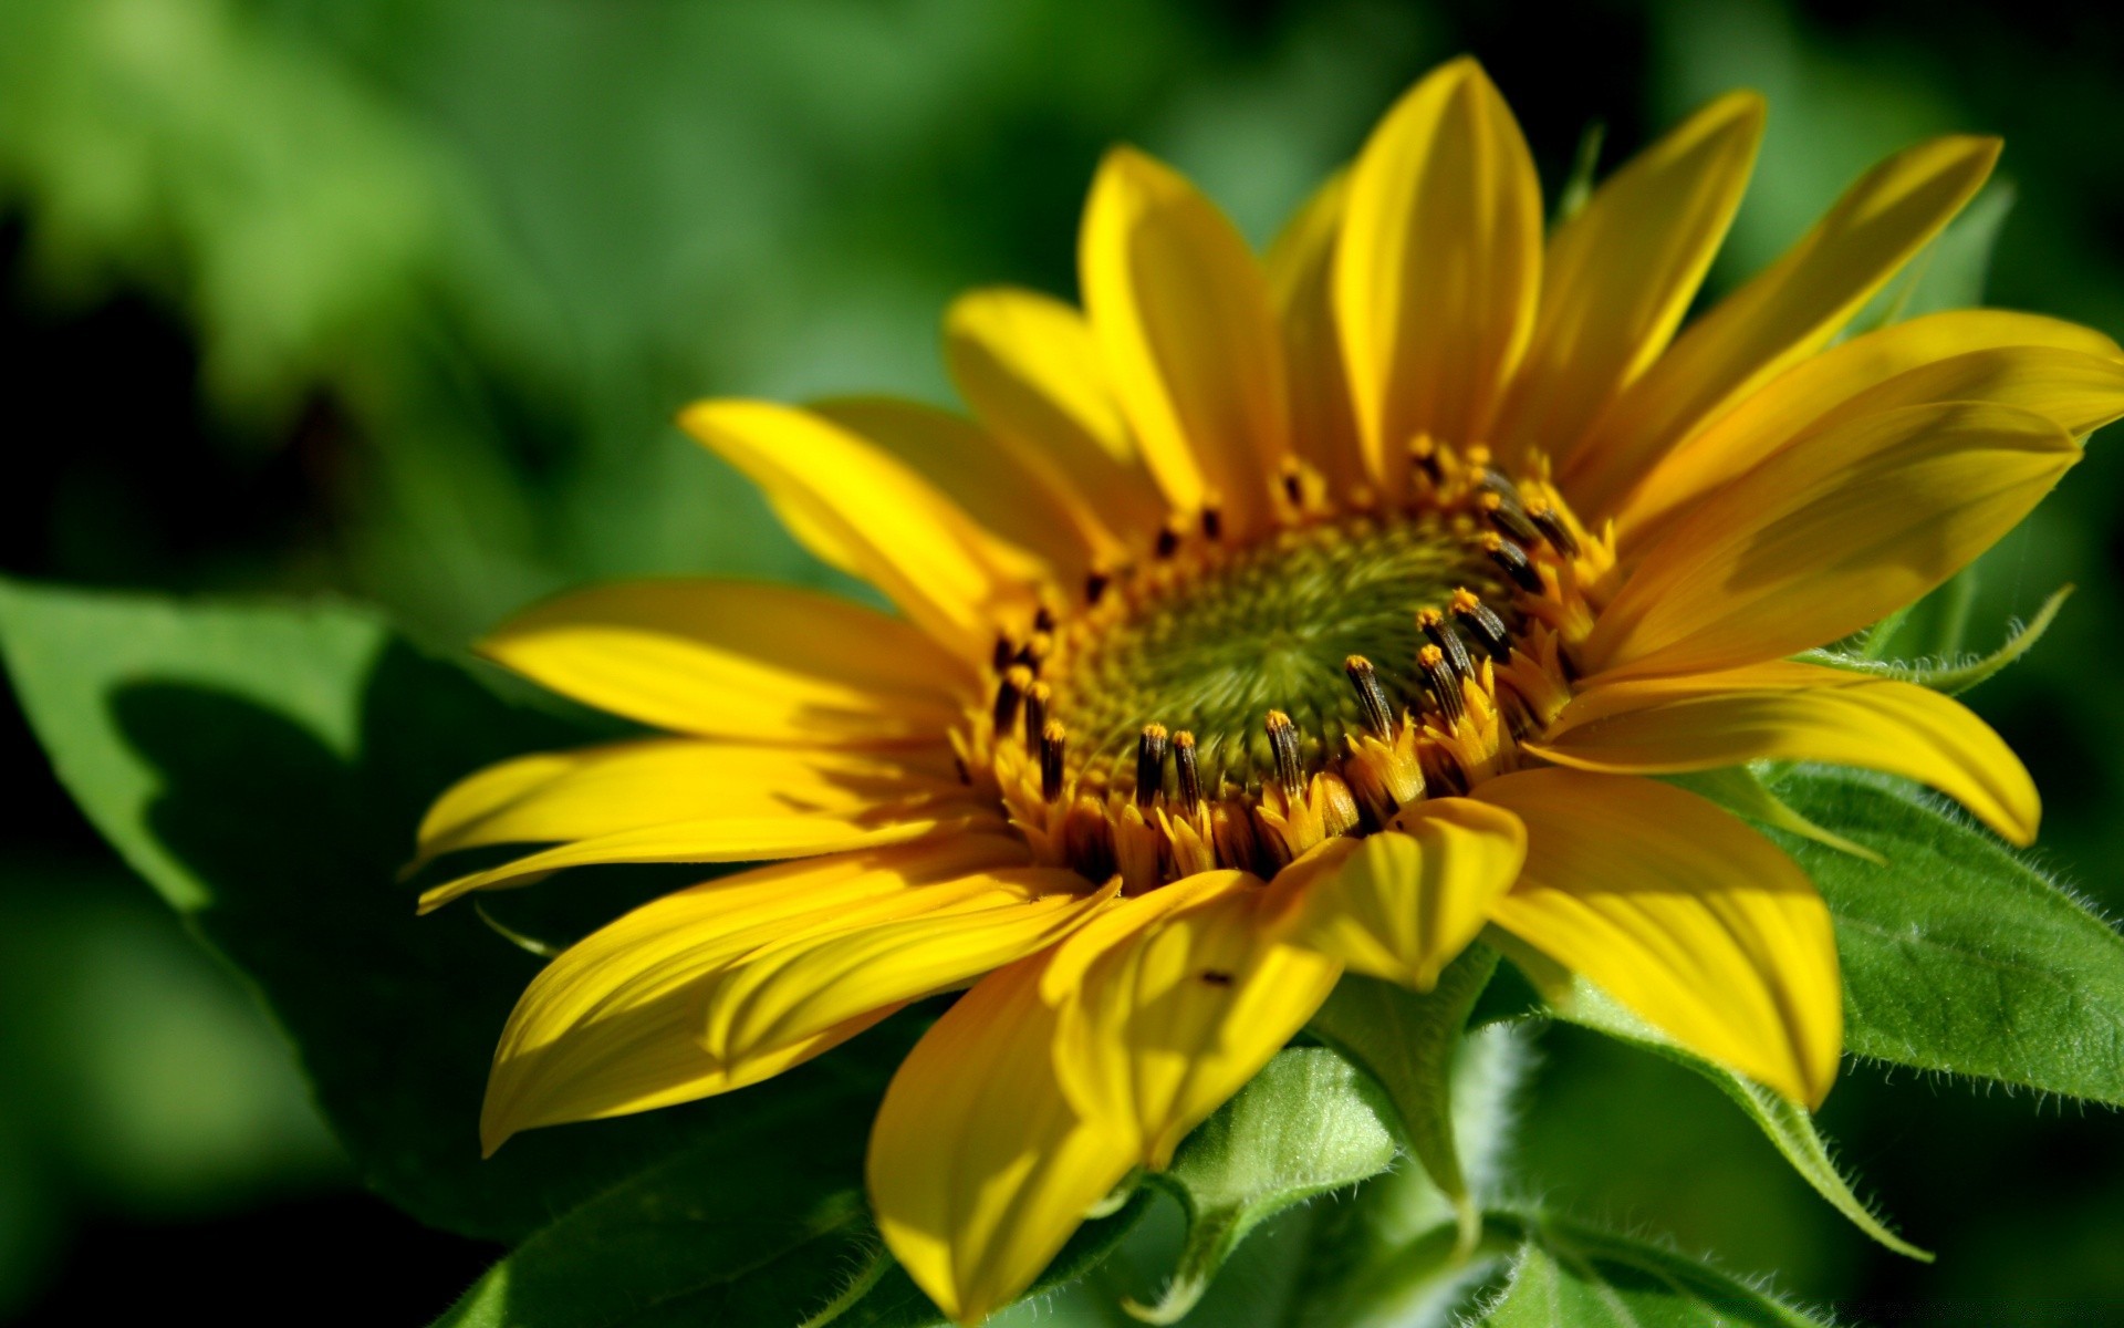
{"type": "Polygon", "coordinates": [[[1378,493],[1351,412],[1342,340],[1334,321],[1334,244],[1349,174],[1321,185],[1268,251],[1268,297],[1283,325],[1291,382],[1291,450],[1321,472],[1330,493],[1378,493]]]}

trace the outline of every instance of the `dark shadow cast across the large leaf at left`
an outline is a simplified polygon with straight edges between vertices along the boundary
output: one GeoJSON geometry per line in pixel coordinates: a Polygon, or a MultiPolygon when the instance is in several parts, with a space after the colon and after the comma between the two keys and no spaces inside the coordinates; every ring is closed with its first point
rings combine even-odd
{"type": "Polygon", "coordinates": [[[410,856],[410,827],[455,778],[582,733],[510,708],[459,667],[401,644],[382,652],[363,697],[350,761],[272,710],[198,686],[140,682],[113,697],[113,712],[159,773],[155,833],[215,882],[195,926],[253,975],[306,1050],[325,1116],[370,1186],[438,1226],[514,1241],[726,1124],[818,1099],[867,1118],[898,1060],[890,1033],[843,1048],[830,1071],[805,1067],[682,1109],[533,1130],[482,1162],[486,1062],[542,960],[469,907],[416,918],[414,890],[393,880],[410,856]],[[871,1073],[852,1075],[856,1065],[871,1073]]]}

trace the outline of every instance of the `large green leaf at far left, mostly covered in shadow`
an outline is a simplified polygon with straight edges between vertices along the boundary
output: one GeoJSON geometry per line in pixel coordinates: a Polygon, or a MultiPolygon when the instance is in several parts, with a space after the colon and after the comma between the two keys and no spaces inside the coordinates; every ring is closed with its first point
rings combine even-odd
{"type": "MultiPolygon", "coordinates": [[[[576,722],[508,703],[336,603],[0,582],[0,650],[89,820],[251,980],[361,1175],[423,1222],[523,1239],[726,1130],[765,1130],[763,1156],[837,1156],[837,1186],[856,1184],[905,1018],[771,1084],[533,1130],[480,1160],[486,1062],[539,960],[472,909],[416,918],[395,871],[435,793],[482,763],[582,742],[576,722]]],[[[535,895],[618,912],[624,897],[603,890],[633,880],[535,895]]],[[[690,1201],[733,1192],[703,1181],[690,1201]]]]}

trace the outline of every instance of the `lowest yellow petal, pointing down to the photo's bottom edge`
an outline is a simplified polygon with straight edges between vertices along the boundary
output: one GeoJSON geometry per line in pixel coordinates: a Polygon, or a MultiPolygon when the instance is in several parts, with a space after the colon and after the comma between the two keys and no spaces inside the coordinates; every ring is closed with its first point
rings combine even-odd
{"type": "Polygon", "coordinates": [[[871,1128],[877,1230],[960,1324],[1017,1298],[1136,1164],[1056,1079],[1049,954],[983,977],[901,1065],[871,1128]]]}

